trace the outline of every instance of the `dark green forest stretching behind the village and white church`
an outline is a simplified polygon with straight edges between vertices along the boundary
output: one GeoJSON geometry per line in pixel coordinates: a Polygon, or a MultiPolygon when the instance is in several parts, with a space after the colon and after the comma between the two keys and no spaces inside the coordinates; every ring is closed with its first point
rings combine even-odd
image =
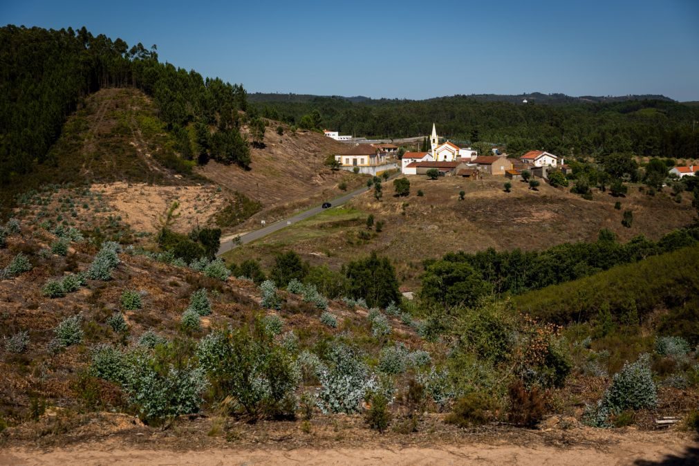
{"type": "Polygon", "coordinates": [[[424,136],[435,122],[440,136],[461,143],[502,145],[513,155],[545,149],[565,156],[612,152],[698,156],[693,122],[699,119],[699,108],[667,99],[556,105],[487,101],[465,95],[424,101],[261,99],[257,96],[251,101],[265,117],[301,127],[319,121],[325,128],[354,136],[424,136]]]}

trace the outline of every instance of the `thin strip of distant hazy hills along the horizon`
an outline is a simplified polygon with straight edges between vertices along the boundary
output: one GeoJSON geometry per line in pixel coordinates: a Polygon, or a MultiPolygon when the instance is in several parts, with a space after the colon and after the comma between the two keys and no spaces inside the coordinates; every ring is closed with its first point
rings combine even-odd
{"type": "MultiPolygon", "coordinates": [[[[423,99],[424,101],[433,101],[435,99],[445,99],[450,96],[434,97],[431,99],[423,99]]],[[[468,99],[473,99],[479,102],[510,102],[510,103],[521,103],[521,101],[531,102],[531,103],[601,103],[601,102],[623,102],[623,101],[642,101],[642,100],[653,100],[653,101],[666,101],[674,102],[674,100],[669,97],[660,94],[628,94],[626,96],[568,96],[566,94],[542,94],[541,92],[533,92],[531,94],[456,94],[454,97],[466,97],[468,99]]],[[[315,99],[338,99],[345,100],[352,103],[373,103],[373,102],[387,102],[387,101],[419,101],[416,99],[372,99],[366,96],[318,96],[314,94],[280,94],[280,93],[264,93],[255,92],[254,94],[248,94],[248,99],[251,102],[293,102],[293,103],[304,103],[312,102],[315,99]]]]}

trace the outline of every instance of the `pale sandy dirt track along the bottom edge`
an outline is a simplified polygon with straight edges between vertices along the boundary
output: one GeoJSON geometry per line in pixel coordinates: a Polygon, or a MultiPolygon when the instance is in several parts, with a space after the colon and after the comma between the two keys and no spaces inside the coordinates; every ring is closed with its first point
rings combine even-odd
{"type": "Polygon", "coordinates": [[[167,451],[90,443],[0,451],[0,465],[697,465],[699,444],[620,442],[605,448],[468,444],[440,448],[167,451]]]}

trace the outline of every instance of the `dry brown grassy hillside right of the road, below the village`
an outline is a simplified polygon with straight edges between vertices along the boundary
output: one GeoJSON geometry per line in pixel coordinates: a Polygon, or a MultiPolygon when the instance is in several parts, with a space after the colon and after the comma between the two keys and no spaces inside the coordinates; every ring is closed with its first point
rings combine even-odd
{"type": "Polygon", "coordinates": [[[447,252],[476,252],[489,247],[545,249],[563,242],[596,240],[601,228],[614,231],[622,241],[640,234],[658,239],[690,224],[696,214],[688,198],[678,204],[668,193],[651,197],[637,187],[632,187],[625,198],[596,191],[593,200],[586,201],[568,189],[544,183],[538,191],[532,191],[528,184],[514,182],[512,192],[505,193],[505,178],[500,176],[477,182],[457,177],[408,178],[408,197],[394,197],[389,184],[381,201],[376,201],[370,191],[343,208],[330,209],[233,250],[226,259],[255,257],[271,265],[274,252],[294,249],[312,263],[339,267],[356,256],[377,251],[395,261],[401,279],[417,284],[413,280],[421,272],[421,261],[447,252]],[[459,201],[462,189],[466,196],[459,201]],[[424,196],[417,196],[418,190],[424,196]],[[621,202],[621,210],[614,209],[616,201],[621,202]],[[633,211],[631,228],[621,225],[624,210],[633,211]],[[380,233],[375,228],[367,230],[369,214],[375,222],[384,222],[380,233]]]}

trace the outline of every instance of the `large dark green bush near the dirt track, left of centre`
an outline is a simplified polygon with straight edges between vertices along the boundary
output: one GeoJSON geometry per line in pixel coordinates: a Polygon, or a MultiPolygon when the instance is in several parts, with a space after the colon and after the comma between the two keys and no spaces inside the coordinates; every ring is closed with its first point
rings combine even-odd
{"type": "Polygon", "coordinates": [[[251,415],[293,415],[299,374],[291,358],[264,332],[218,330],[196,349],[217,397],[231,396],[251,415]]]}

